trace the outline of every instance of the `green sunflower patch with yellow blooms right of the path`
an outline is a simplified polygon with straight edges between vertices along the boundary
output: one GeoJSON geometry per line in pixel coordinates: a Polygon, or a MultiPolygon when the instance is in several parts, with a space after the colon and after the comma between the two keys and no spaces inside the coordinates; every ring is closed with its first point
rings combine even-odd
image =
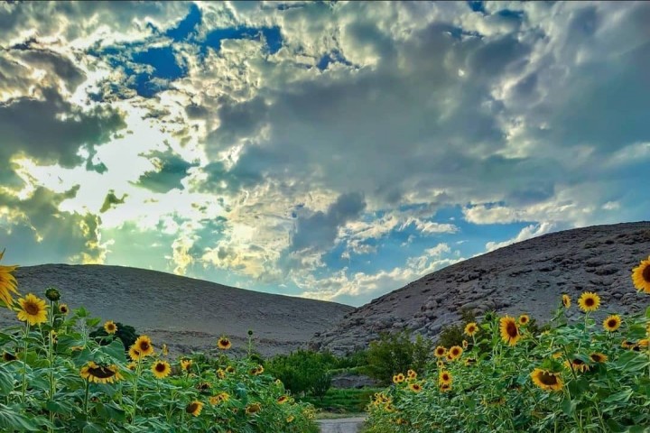
{"type": "MultiPolygon", "coordinates": [[[[650,295],[650,257],[632,282],[650,295]]],[[[650,431],[650,308],[592,318],[606,308],[597,293],[565,294],[541,333],[526,314],[469,323],[461,345],[437,346],[423,372],[375,394],[365,432],[650,431]]]]}

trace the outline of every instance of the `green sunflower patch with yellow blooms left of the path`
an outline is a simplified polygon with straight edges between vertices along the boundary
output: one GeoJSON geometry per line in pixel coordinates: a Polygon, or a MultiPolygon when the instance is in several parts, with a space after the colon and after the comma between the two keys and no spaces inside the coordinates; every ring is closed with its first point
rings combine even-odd
{"type": "Polygon", "coordinates": [[[90,337],[101,320],[70,311],[58,290],[21,297],[15,268],[0,266],[0,306],[17,319],[0,331],[0,431],[318,431],[311,405],[294,401],[252,357],[228,357],[227,337],[213,358],[172,360],[148,336],[126,354],[116,323],[90,337]]]}

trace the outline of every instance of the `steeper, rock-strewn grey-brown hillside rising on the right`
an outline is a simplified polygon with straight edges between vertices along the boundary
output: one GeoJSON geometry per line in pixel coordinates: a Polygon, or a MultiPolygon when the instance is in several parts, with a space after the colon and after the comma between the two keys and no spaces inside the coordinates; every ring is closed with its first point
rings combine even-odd
{"type": "MultiPolygon", "coordinates": [[[[460,319],[461,309],[551,317],[562,293],[574,306],[590,290],[607,311],[636,312],[650,303],[637,294],[630,273],[650,255],[650,222],[591,226],[543,235],[413,281],[346,315],[311,340],[315,349],[346,353],[364,347],[379,332],[410,328],[434,338],[460,319]]],[[[580,315],[575,307],[572,314],[580,315]]]]}

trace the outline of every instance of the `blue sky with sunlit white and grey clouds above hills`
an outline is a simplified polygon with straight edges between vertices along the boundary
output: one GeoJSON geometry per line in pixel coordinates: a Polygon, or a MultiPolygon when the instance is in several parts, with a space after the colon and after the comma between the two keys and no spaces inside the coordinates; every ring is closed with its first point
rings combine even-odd
{"type": "Polygon", "coordinates": [[[648,2],[4,2],[3,263],[359,306],[650,219],[648,23],[648,2]]]}

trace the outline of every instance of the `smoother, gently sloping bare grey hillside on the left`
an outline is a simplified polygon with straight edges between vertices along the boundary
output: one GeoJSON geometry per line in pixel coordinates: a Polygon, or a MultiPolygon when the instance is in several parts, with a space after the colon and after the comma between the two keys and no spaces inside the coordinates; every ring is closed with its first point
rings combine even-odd
{"type": "MultiPolygon", "coordinates": [[[[70,309],[83,305],[94,317],[131,325],[172,354],[207,351],[221,335],[242,352],[248,329],[263,355],[287,353],[353,310],[121,266],[46,264],[19,268],[15,276],[23,294],[42,297],[45,288],[57,287],[70,309]]],[[[14,313],[0,309],[2,327],[17,323],[14,313]]]]}

